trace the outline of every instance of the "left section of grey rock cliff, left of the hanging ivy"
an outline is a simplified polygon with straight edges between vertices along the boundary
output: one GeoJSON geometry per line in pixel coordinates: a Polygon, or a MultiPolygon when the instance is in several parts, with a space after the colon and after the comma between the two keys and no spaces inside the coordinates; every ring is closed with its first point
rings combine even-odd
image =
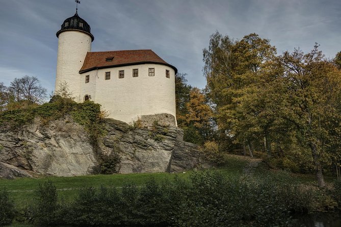
{"type": "Polygon", "coordinates": [[[0,161],[33,174],[90,174],[96,163],[83,127],[70,118],[17,129],[0,129],[0,161]]]}

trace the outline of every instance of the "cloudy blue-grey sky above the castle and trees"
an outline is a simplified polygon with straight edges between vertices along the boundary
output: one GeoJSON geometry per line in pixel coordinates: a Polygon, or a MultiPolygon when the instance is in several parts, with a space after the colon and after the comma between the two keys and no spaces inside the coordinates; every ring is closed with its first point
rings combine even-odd
{"type": "MultiPolygon", "coordinates": [[[[0,82],[36,76],[54,89],[58,38],[74,0],[0,0],[0,82]]],[[[317,42],[327,58],[341,50],[339,0],[81,0],[92,51],[152,49],[188,83],[204,88],[202,50],[216,31],[235,40],[256,33],[278,54],[317,42]]]]}

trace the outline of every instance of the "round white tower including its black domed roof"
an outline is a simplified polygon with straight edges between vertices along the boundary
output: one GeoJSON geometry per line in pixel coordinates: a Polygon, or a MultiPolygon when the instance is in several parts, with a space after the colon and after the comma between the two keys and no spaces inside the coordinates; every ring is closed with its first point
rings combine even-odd
{"type": "Polygon", "coordinates": [[[77,101],[80,96],[80,82],[83,79],[79,71],[87,52],[91,51],[94,36],[90,33],[90,25],[79,17],[77,12],[63,22],[56,35],[58,52],[55,91],[60,89],[60,84],[66,82],[69,92],[77,101]]]}

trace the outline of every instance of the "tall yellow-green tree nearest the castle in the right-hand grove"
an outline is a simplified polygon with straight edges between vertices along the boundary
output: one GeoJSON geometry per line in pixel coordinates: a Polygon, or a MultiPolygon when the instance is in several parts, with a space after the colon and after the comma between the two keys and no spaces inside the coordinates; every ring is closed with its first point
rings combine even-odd
{"type": "MultiPolygon", "coordinates": [[[[211,36],[208,49],[203,50],[206,89],[208,97],[216,104],[218,128],[221,134],[233,138],[234,142],[244,146],[247,143],[250,150],[255,134],[250,131],[247,135],[246,128],[241,125],[246,123],[245,113],[250,111],[245,106],[247,102],[240,108],[241,101],[244,96],[259,89],[257,84],[263,79],[261,74],[267,71],[267,64],[275,54],[276,48],[270,45],[270,41],[259,38],[257,34],[233,41],[216,32],[211,36]]],[[[268,124],[263,126],[267,127],[268,124]]],[[[270,145],[268,131],[263,132],[263,135],[257,138],[263,140],[265,137],[270,145]]]]}

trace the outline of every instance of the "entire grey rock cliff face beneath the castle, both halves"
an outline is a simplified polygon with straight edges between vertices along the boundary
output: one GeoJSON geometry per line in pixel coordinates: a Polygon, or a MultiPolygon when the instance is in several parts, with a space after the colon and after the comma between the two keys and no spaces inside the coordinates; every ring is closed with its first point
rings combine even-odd
{"type": "Polygon", "coordinates": [[[42,124],[37,118],[20,128],[0,129],[0,177],[80,176],[93,173],[98,154],[115,154],[118,173],[179,172],[203,164],[196,145],[183,141],[183,131],[155,125],[132,128],[104,120],[104,133],[94,146],[84,128],[70,117],[42,124]]]}

